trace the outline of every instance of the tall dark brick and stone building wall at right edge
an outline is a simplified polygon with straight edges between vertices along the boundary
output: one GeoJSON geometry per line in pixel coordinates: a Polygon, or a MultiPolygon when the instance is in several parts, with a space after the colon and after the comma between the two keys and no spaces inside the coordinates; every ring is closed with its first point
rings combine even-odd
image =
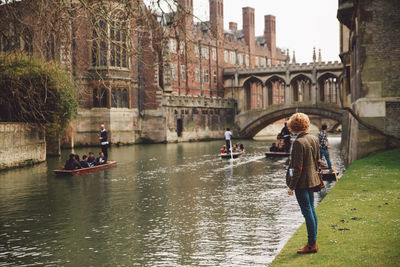
{"type": "Polygon", "coordinates": [[[400,146],[399,12],[396,1],[339,1],[338,19],[348,29],[341,32],[340,51],[346,66],[345,103],[372,126],[347,115],[342,145],[348,164],[400,146]]]}

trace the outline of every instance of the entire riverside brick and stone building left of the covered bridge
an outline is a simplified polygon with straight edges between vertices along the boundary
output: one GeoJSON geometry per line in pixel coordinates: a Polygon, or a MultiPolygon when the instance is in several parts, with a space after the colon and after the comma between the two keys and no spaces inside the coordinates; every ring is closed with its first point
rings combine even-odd
{"type": "MultiPolygon", "coordinates": [[[[192,0],[179,0],[162,18],[132,3],[126,10],[111,0],[24,0],[0,9],[1,53],[55,61],[79,88],[78,117],[64,146],[98,144],[100,123],[114,144],[217,138],[234,120],[223,69],[286,60],[276,48],[275,17],[265,16],[257,37],[253,8],[243,8],[242,30],[234,22],[224,30],[223,0],[210,0],[210,20],[196,24],[192,0]]],[[[262,103],[262,88],[251,95],[251,103],[262,103]]]]}

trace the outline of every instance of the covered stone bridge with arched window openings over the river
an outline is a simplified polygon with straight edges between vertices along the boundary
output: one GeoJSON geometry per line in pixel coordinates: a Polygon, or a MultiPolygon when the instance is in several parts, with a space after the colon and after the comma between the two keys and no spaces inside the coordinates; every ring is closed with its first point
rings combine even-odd
{"type": "Polygon", "coordinates": [[[340,123],[342,72],[337,61],[225,69],[225,98],[237,102],[235,122],[241,137],[253,137],[295,112],[340,123]]]}

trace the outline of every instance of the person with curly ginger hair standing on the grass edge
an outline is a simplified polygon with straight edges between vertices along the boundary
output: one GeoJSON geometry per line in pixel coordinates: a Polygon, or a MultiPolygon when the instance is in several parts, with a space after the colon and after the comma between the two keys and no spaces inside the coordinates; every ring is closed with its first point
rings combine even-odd
{"type": "Polygon", "coordinates": [[[296,134],[291,152],[289,166],[288,193],[296,195],[301,213],[303,214],[307,232],[308,243],[297,253],[315,253],[318,251],[317,227],[318,219],[314,208],[314,188],[320,184],[318,176],[318,162],[320,161],[318,138],[308,134],[310,120],[304,113],[292,115],[288,122],[291,133],[296,134]]]}

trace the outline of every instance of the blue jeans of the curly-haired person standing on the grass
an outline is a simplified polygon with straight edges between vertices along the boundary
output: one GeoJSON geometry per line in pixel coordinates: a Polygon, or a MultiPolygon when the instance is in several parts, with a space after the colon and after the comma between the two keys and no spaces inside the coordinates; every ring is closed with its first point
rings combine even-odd
{"type": "Polygon", "coordinates": [[[314,190],[312,188],[296,189],[295,194],[301,213],[306,219],[308,244],[314,245],[317,242],[318,228],[318,218],[314,208],[314,190]]]}

